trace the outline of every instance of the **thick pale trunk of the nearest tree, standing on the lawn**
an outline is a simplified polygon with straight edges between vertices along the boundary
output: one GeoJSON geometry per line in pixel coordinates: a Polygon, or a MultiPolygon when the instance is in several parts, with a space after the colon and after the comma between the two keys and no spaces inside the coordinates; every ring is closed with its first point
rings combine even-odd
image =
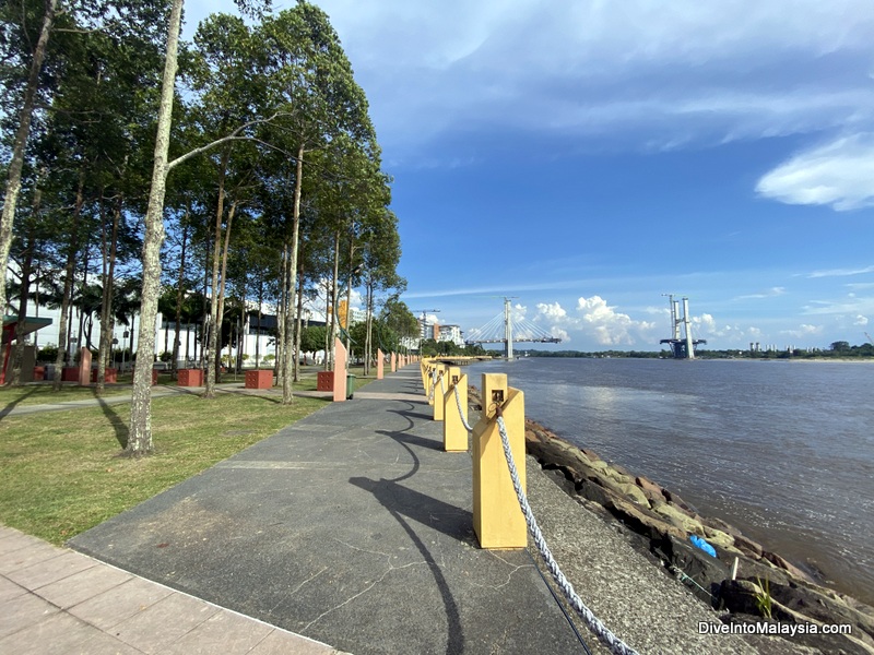
{"type": "Polygon", "coordinates": [[[152,360],[155,356],[155,318],[161,293],[161,245],[164,241],[164,195],[167,190],[167,152],[169,151],[173,97],[176,82],[176,58],[179,46],[179,27],[182,19],[182,0],[173,1],[167,31],[167,59],[161,86],[161,107],[157,116],[155,162],[152,169],[152,188],[145,214],[143,240],[143,290],[140,307],[140,338],[137,348],[137,367],[130,403],[130,436],[125,449],[133,456],[152,452],[152,360]]]}

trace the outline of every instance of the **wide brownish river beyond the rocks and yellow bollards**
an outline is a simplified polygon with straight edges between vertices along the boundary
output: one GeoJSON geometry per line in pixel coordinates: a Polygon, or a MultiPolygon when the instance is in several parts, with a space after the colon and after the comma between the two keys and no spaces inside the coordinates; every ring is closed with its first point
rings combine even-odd
{"type": "Polygon", "coordinates": [[[525,416],[874,605],[874,364],[529,357],[525,416]]]}

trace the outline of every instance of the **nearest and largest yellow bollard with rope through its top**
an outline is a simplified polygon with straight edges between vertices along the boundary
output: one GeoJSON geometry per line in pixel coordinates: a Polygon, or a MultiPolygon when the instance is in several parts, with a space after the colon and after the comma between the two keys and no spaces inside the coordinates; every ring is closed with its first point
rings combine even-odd
{"type": "Polygon", "coordinates": [[[496,419],[504,415],[510,451],[522,490],[525,489],[524,394],[507,386],[507,376],[483,373],[483,414],[473,428],[473,529],[480,547],[524,548],[528,532],[512,487],[496,419]]]}

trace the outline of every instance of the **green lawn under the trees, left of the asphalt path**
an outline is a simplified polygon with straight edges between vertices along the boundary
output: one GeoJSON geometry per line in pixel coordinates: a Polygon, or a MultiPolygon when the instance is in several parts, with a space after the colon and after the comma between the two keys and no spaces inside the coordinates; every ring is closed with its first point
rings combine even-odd
{"type": "MultiPolygon", "coordinates": [[[[356,382],[361,388],[367,381],[356,382]]],[[[2,389],[0,402],[23,405],[15,394],[33,398],[34,389],[43,388],[2,389]]],[[[67,400],[93,397],[88,391],[70,388],[61,393],[67,400]]],[[[326,404],[296,397],[283,406],[281,400],[275,391],[222,392],[211,401],[188,394],[154,398],[155,453],[139,460],[121,456],[127,403],[5,416],[0,419],[0,523],[61,545],[326,404]]]]}

